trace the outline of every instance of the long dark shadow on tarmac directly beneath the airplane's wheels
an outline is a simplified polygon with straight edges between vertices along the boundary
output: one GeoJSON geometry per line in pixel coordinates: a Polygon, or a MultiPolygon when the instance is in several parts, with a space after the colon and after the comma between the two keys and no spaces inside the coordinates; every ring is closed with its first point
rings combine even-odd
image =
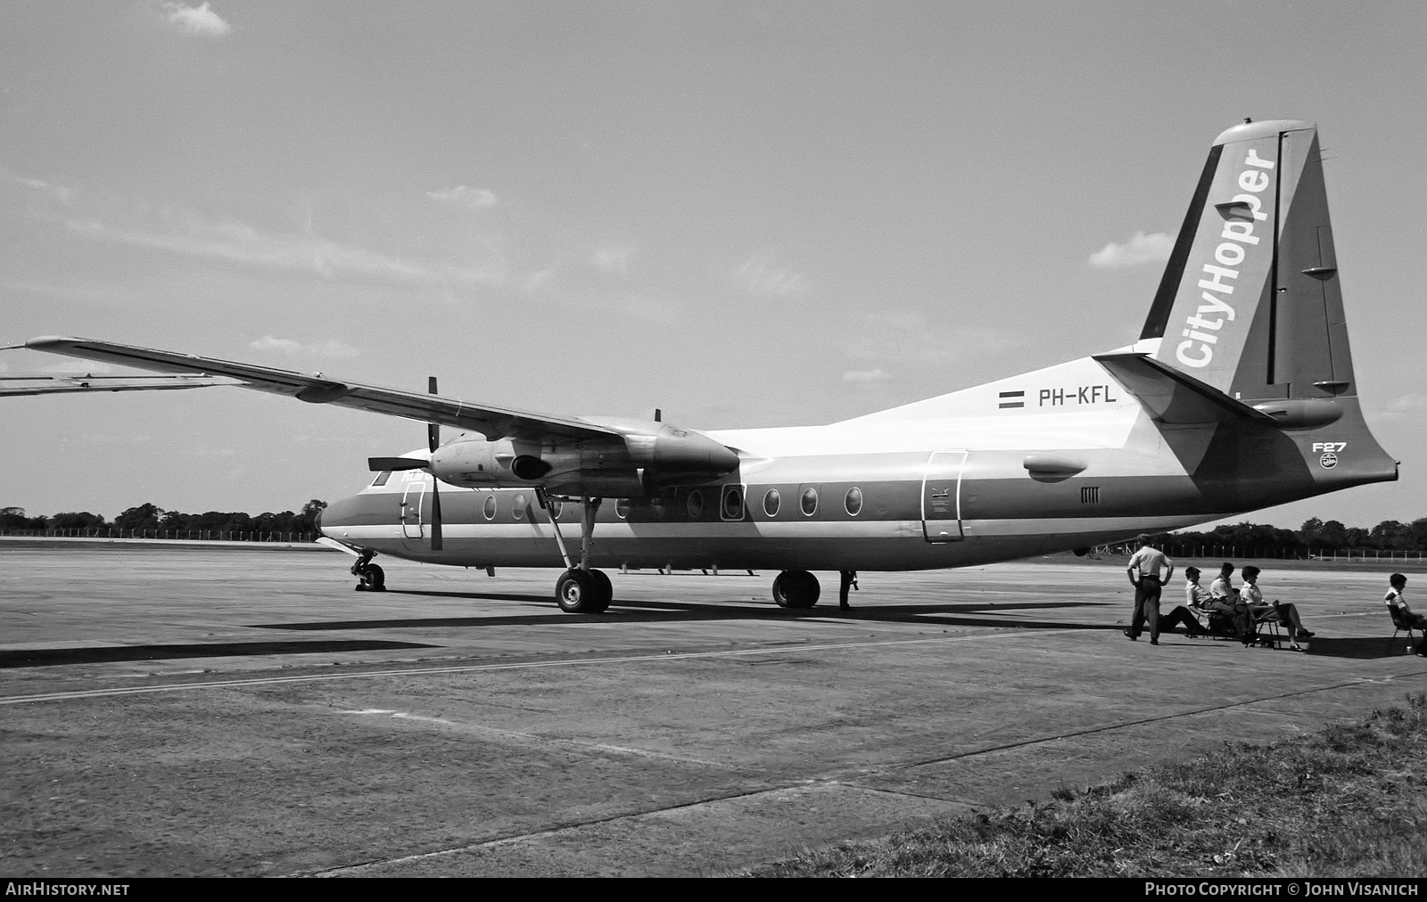
{"type": "Polygon", "coordinates": [[[579,627],[582,624],[632,624],[632,622],[695,622],[732,619],[802,619],[838,618],[845,621],[922,624],[936,627],[1019,627],[1033,629],[1122,629],[1104,624],[1083,624],[1066,621],[1033,621],[999,617],[965,617],[980,611],[997,614],[1002,611],[1043,608],[1087,608],[1100,607],[1096,602],[1053,601],[1053,602],[1009,602],[1009,604],[965,604],[965,605],[876,605],[839,611],[833,605],[818,608],[779,608],[772,604],[681,604],[672,601],[615,601],[604,614],[558,614],[544,595],[485,595],[469,592],[401,592],[402,595],[438,595],[454,598],[499,598],[504,601],[531,601],[544,611],[541,614],[515,614],[497,617],[432,617],[391,618],[361,621],[311,621],[297,624],[250,624],[257,629],[424,629],[451,627],[579,627]],[[960,615],[960,617],[959,617],[960,615]]]}

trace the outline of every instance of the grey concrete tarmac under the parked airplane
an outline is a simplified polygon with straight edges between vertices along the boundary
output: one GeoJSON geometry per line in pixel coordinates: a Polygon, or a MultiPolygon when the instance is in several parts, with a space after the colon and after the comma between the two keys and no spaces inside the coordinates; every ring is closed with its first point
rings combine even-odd
{"type": "Polygon", "coordinates": [[[1307,654],[1127,641],[1123,559],[866,572],[846,614],[836,574],[796,612],[773,572],[611,572],[602,615],[380,562],[0,539],[0,872],[726,875],[1427,689],[1400,562],[1259,561],[1307,654]]]}

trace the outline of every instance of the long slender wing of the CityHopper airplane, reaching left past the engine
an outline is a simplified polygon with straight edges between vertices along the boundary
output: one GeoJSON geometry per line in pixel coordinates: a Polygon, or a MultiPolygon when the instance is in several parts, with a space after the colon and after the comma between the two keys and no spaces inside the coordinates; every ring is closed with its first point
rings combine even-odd
{"type": "Polygon", "coordinates": [[[334,380],[321,373],[294,373],[293,370],[258,367],[213,357],[198,357],[197,354],[158,351],[90,338],[46,335],[26,341],[24,347],[33,351],[100,360],[140,370],[156,370],[158,373],[201,374],[205,377],[223,375],[237,380],[235,384],[241,388],[255,388],[271,394],[288,395],[310,404],[332,404],[335,407],[350,407],[374,414],[474,430],[487,438],[511,437],[541,442],[549,440],[558,442],[588,440],[622,441],[621,435],[614,430],[581,420],[545,417],[542,414],[471,404],[459,398],[362,385],[360,382],[334,380]]]}

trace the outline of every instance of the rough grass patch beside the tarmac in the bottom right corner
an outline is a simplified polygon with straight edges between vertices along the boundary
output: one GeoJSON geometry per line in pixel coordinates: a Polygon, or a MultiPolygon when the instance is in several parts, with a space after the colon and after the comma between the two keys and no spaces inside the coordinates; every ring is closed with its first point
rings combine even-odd
{"type": "Polygon", "coordinates": [[[753,876],[1427,873],[1427,695],[1271,745],[1224,744],[1040,805],[809,851],[753,876]]]}

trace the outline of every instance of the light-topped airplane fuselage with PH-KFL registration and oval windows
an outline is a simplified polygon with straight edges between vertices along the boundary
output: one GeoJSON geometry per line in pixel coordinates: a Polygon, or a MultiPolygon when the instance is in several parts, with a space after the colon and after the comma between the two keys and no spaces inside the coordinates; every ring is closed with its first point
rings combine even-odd
{"type": "MultiPolygon", "coordinates": [[[[1371,442],[1333,468],[1314,445],[1350,438],[1354,398],[1321,428],[1166,427],[1106,367],[1082,358],[819,427],[709,431],[735,448],[723,478],[606,500],[595,567],[929,569],[1093,547],[1396,478],[1371,442]]],[[[1361,430],[1367,435],[1366,427],[1361,430]]],[[[454,441],[481,441],[458,435],[454,441]]],[[[1349,441],[1351,445],[1351,441],[1349,441]]],[[[323,532],[355,548],[459,567],[562,567],[534,488],[441,487],[378,474],[334,502],[323,532]]],[[[578,544],[581,511],[557,522],[578,544]]]]}

